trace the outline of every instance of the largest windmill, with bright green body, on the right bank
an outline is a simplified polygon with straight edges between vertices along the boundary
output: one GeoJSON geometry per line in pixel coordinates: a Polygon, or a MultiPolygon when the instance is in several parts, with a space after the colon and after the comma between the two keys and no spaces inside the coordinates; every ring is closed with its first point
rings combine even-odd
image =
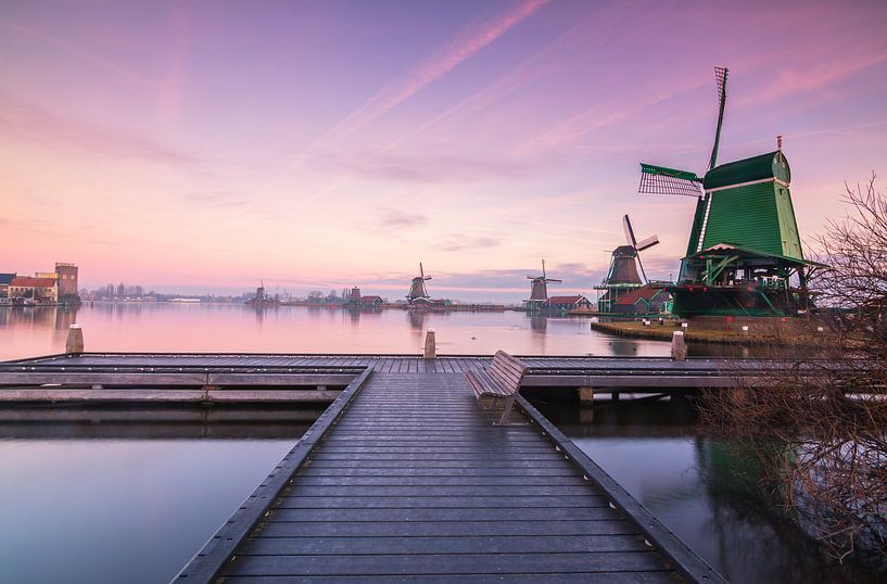
{"type": "Polygon", "coordinates": [[[807,280],[823,267],[803,257],[789,182],[777,149],[718,165],[726,106],[726,67],[717,67],[719,113],[708,172],[641,164],[641,193],[697,198],[673,310],[680,316],[795,315],[810,307],[807,280]]]}

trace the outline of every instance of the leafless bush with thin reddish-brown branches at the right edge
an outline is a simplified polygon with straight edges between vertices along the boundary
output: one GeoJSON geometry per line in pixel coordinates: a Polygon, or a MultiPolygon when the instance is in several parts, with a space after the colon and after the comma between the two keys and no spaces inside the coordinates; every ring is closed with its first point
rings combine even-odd
{"type": "Polygon", "coordinates": [[[887,557],[887,199],[873,176],[841,200],[849,213],[816,239],[829,268],[811,278],[826,332],[789,361],[737,370],[742,388],[707,392],[702,418],[764,461],[832,554],[887,557]]]}

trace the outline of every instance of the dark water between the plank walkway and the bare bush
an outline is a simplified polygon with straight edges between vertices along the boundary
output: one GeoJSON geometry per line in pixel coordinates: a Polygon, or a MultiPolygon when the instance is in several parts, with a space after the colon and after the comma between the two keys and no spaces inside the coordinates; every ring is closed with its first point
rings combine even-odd
{"type": "Polygon", "coordinates": [[[707,435],[683,403],[542,409],[576,445],[733,582],[883,582],[827,557],[759,487],[757,457],[707,435]]]}

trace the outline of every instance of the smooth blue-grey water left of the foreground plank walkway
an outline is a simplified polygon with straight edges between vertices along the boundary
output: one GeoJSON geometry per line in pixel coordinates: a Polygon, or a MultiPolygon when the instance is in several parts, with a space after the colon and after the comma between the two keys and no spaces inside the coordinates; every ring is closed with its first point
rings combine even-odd
{"type": "Polygon", "coordinates": [[[294,439],[0,439],[0,582],[168,582],[294,439]]]}

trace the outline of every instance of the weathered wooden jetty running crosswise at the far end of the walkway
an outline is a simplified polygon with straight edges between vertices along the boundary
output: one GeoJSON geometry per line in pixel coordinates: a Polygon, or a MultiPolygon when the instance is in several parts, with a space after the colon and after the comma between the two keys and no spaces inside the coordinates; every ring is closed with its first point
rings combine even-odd
{"type": "MultiPolygon", "coordinates": [[[[687,393],[734,388],[772,361],[668,357],[521,357],[523,388],[687,393]],[[742,372],[742,373],[740,373],[742,372]]],[[[249,404],[332,402],[365,369],[464,373],[487,356],[81,353],[0,363],[0,403],[249,404]]],[[[769,365],[770,364],[770,365],[769,365]]],[[[768,368],[769,367],[769,368],[768,368]]],[[[766,369],[764,369],[766,368],[766,369]]]]}

